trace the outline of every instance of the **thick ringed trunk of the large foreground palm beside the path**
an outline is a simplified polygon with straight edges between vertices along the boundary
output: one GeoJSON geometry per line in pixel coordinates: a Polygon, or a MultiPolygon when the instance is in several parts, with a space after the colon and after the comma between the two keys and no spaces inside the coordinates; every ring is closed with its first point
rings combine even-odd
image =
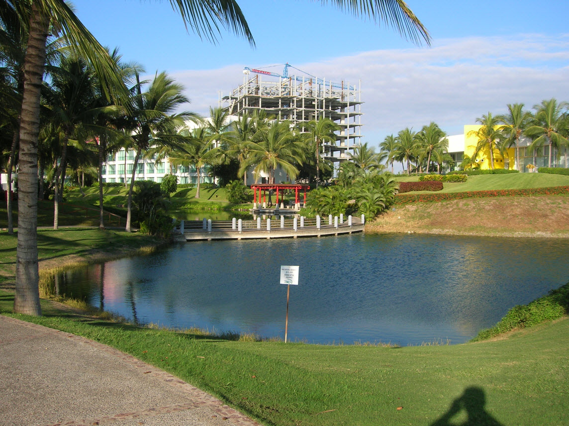
{"type": "Polygon", "coordinates": [[[38,134],[40,90],[46,62],[49,17],[32,2],[20,123],[18,246],[14,312],[42,314],[38,288],[38,134]]]}

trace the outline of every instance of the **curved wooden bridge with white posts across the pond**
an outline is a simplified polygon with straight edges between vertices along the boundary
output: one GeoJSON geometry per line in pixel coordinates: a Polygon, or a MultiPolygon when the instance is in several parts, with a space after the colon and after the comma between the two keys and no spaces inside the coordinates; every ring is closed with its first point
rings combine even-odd
{"type": "Polygon", "coordinates": [[[262,220],[182,220],[176,224],[174,239],[193,240],[244,240],[271,238],[320,237],[324,235],[352,234],[364,231],[365,219],[348,216],[335,218],[294,218],[262,220]]]}

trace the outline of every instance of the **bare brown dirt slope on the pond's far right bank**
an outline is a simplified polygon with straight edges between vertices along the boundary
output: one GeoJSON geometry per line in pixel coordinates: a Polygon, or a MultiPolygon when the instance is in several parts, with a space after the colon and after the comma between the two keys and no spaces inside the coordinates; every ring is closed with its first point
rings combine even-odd
{"type": "Polygon", "coordinates": [[[393,206],[366,232],[569,238],[569,196],[470,198],[393,206]]]}

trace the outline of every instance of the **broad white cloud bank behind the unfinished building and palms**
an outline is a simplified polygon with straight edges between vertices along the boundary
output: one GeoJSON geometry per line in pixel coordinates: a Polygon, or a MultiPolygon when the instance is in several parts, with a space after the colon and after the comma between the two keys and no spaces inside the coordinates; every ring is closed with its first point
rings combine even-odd
{"type": "MultiPolygon", "coordinates": [[[[569,34],[525,34],[439,40],[431,48],[378,50],[294,64],[328,81],[361,80],[362,133],[373,145],[405,127],[420,129],[436,121],[460,133],[488,111],[509,103],[527,108],[555,97],[569,100],[569,34]]],[[[242,83],[242,68],[232,65],[173,75],[188,88],[191,109],[207,113],[218,91],[227,95],[242,83]]]]}

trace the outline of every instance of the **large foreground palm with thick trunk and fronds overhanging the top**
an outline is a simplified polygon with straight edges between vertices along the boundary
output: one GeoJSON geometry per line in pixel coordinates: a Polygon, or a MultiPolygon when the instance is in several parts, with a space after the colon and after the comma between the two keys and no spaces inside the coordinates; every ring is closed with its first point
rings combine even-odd
{"type": "MultiPolygon", "coordinates": [[[[2,0],[2,8],[13,7],[20,18],[22,11],[29,11],[29,34],[24,60],[24,88],[22,95],[22,120],[20,122],[19,197],[18,197],[18,248],[14,297],[14,311],[40,315],[38,290],[38,133],[40,88],[46,58],[46,40],[50,21],[57,24],[69,40],[69,45],[81,52],[96,68],[97,75],[105,81],[105,93],[113,95],[125,92],[116,64],[104,48],[69,8],[64,0],[32,0],[29,2],[2,0]],[[113,86],[113,84],[116,84],[113,86]]],[[[324,5],[327,4],[321,0],[324,5]]],[[[171,0],[171,6],[179,11],[184,24],[200,37],[215,41],[220,26],[237,35],[245,36],[254,44],[249,26],[235,0],[205,1],[171,0]]],[[[337,1],[336,6],[356,16],[370,17],[393,25],[406,39],[430,44],[430,36],[423,24],[402,0],[369,0],[369,2],[337,1]]]]}

